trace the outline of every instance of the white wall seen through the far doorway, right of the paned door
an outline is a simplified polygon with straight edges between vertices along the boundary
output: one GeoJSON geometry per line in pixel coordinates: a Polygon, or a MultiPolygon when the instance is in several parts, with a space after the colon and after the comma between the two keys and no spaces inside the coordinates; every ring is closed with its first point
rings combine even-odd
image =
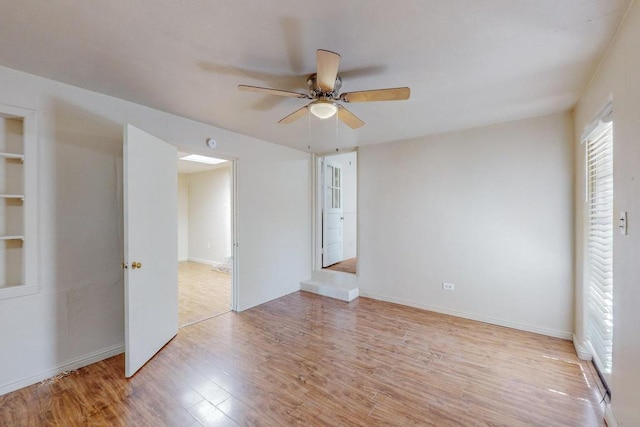
{"type": "Polygon", "coordinates": [[[327,157],[342,165],[342,258],[357,255],[358,154],[355,151],[327,157]]]}

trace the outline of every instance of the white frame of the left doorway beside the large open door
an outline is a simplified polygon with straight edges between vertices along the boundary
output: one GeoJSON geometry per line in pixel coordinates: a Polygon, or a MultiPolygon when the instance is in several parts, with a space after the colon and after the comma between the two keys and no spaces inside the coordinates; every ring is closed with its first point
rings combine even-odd
{"type": "MultiPolygon", "coordinates": [[[[238,215],[238,159],[218,155],[215,152],[207,152],[203,150],[194,150],[193,147],[188,145],[176,145],[178,151],[184,154],[199,154],[201,156],[214,157],[216,159],[224,159],[231,163],[231,195],[229,202],[231,203],[231,311],[238,311],[240,285],[238,280],[238,269],[240,267],[239,250],[238,250],[238,230],[239,230],[239,215],[238,215]]],[[[176,158],[176,162],[178,159],[176,158]]],[[[177,208],[177,206],[176,206],[177,208]]],[[[176,260],[177,262],[177,260],[176,260]]]]}

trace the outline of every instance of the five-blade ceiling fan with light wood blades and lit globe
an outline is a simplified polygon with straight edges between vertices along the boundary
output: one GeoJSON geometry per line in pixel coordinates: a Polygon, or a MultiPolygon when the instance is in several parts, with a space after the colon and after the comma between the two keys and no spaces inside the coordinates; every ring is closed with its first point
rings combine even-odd
{"type": "Polygon", "coordinates": [[[409,99],[411,91],[408,87],[346,92],[338,95],[338,91],[342,87],[342,77],[338,74],[340,55],[328,50],[318,49],[316,62],[316,73],[307,77],[309,94],[248,85],[238,85],[238,89],[247,92],[261,92],[269,95],[313,100],[281,119],[278,123],[291,123],[304,116],[307,112],[311,112],[319,119],[328,119],[337,113],[338,118],[352,129],[359,128],[364,125],[364,122],[344,108],[340,102],[401,101],[409,99]]]}

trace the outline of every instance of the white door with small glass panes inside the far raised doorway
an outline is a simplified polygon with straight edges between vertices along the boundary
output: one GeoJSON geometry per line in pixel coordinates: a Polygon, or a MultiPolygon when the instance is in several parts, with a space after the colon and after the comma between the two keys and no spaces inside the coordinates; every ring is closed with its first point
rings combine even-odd
{"type": "Polygon", "coordinates": [[[324,160],[324,207],[322,209],[322,266],[343,260],[342,255],[342,166],[324,160]]]}

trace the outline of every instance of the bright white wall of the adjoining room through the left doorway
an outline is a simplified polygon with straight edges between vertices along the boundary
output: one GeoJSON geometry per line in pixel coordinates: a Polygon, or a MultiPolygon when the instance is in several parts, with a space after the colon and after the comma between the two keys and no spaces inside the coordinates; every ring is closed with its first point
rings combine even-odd
{"type": "Polygon", "coordinates": [[[225,165],[189,174],[189,259],[231,267],[231,167],[225,165]]]}

